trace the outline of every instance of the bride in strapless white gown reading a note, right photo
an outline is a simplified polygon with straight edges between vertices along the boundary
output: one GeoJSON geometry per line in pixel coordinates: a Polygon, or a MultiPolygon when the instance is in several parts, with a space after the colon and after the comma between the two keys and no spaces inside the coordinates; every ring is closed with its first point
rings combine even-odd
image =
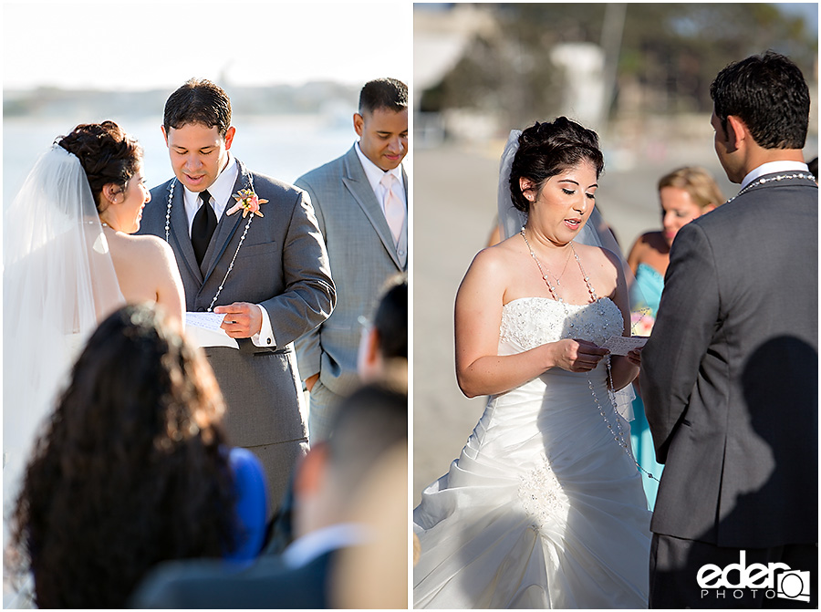
{"type": "Polygon", "coordinates": [[[650,513],[614,393],[638,368],[600,347],[630,320],[622,262],[592,245],[602,168],[564,117],[505,150],[526,223],[500,203],[510,237],[456,296],[459,386],[491,397],[414,510],[414,607],[647,607],[650,513]]]}

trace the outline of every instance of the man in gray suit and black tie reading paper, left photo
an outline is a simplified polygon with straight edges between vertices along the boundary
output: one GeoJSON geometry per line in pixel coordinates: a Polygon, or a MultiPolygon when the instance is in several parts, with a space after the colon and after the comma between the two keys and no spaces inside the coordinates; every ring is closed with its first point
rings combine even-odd
{"type": "Polygon", "coordinates": [[[239,350],[204,350],[227,406],[229,440],[265,468],[270,516],[307,452],[293,342],[327,319],[336,290],[306,193],[234,158],[235,131],[231,100],[212,82],[191,79],[171,94],[162,134],[175,178],[151,190],[140,233],[171,244],[186,309],[213,306],[237,339],[239,350]],[[234,210],[241,190],[255,193],[249,211],[234,210]]]}

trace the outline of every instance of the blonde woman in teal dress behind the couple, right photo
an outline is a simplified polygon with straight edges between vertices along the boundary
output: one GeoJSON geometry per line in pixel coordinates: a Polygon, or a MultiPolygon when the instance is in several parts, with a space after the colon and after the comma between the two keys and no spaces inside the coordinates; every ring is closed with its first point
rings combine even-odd
{"type": "MultiPolygon", "coordinates": [[[[646,313],[637,317],[639,320],[634,324],[633,334],[637,336],[650,336],[664,288],[664,274],[670,264],[670,245],[676,233],[693,219],[721,205],[724,196],[707,171],[690,166],[661,177],[659,200],[661,230],[639,236],[628,256],[628,264],[636,276],[633,302],[639,301],[638,306],[646,313]]],[[[633,452],[641,467],[650,472],[654,479],[660,479],[663,466],[656,462],[656,451],[640,397],[639,379],[634,385],[637,397],[633,400],[633,412],[636,419],[630,423],[633,452]]],[[[659,489],[659,481],[654,479],[644,477],[644,493],[650,510],[656,503],[659,489]]]]}

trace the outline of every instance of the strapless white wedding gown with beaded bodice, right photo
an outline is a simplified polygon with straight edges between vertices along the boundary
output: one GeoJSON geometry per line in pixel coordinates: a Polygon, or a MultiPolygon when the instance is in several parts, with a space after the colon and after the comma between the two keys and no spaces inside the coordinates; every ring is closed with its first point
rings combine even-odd
{"type": "MultiPolygon", "coordinates": [[[[608,298],[525,297],[503,308],[499,355],[565,337],[601,344],[622,328],[608,298]]],[[[413,512],[414,607],[647,607],[650,512],[599,410],[618,431],[606,379],[604,361],[589,374],[553,368],[490,398],[413,512]]]]}

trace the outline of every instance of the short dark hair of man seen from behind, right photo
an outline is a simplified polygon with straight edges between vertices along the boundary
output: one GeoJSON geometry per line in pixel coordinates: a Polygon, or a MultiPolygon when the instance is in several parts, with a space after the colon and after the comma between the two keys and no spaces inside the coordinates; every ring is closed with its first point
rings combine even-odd
{"type": "Polygon", "coordinates": [[[724,131],[733,115],[764,149],[804,148],[809,88],[789,57],[767,51],[733,62],[712,81],[710,97],[724,131]]]}

